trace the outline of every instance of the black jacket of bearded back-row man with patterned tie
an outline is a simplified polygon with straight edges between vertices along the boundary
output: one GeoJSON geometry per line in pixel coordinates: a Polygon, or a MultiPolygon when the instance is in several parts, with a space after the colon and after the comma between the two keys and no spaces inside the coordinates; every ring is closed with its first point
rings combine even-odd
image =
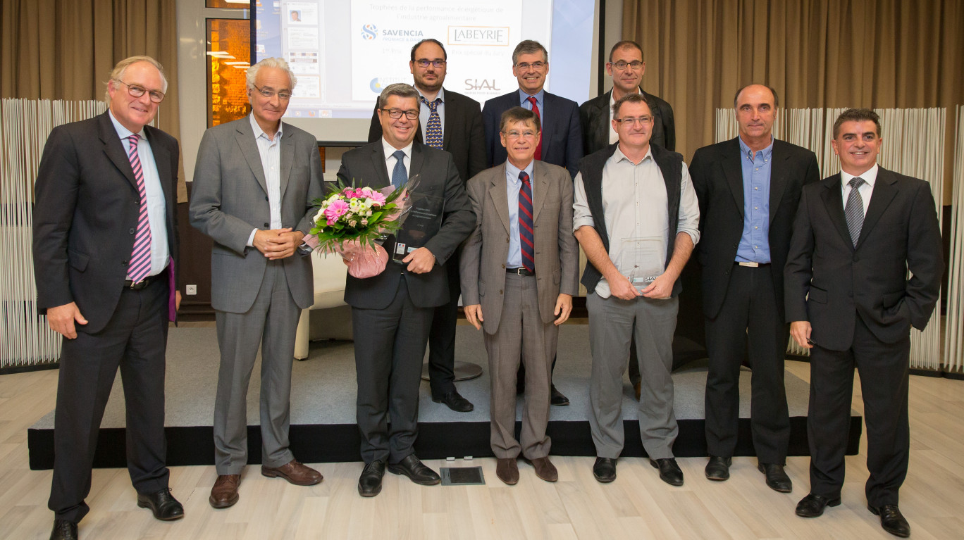
{"type": "MultiPolygon", "coordinates": [[[[382,123],[378,121],[378,103],[371,115],[368,142],[382,139],[382,123]]],[[[422,142],[421,121],[415,142],[422,142]]],[[[486,168],[485,131],[479,102],[461,93],[445,89],[445,124],[442,126],[442,150],[452,154],[455,168],[463,182],[486,168]]]]}

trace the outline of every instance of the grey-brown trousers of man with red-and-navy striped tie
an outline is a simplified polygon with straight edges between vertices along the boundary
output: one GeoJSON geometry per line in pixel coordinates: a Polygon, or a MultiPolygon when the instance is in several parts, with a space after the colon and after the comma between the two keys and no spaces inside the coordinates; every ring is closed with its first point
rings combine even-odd
{"type": "MultiPolygon", "coordinates": [[[[485,314],[482,314],[485,317],[485,314]]],[[[559,328],[539,317],[535,276],[505,275],[505,296],[495,334],[485,336],[491,383],[491,445],[495,457],[527,459],[549,455],[549,366],[559,328]],[[516,372],[525,366],[522,444],[516,441],[516,372]]]]}

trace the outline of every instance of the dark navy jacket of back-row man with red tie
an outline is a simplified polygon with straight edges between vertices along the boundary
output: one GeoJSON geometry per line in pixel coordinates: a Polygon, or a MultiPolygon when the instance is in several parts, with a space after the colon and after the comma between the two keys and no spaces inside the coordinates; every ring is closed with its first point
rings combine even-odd
{"type": "MultiPolygon", "coordinates": [[[[577,164],[582,159],[582,132],[579,129],[578,106],[572,99],[546,92],[546,109],[542,114],[542,161],[565,167],[576,178],[577,164]]],[[[494,97],[485,102],[482,119],[485,123],[485,148],[488,167],[505,163],[509,155],[498,138],[498,123],[502,113],[519,106],[519,90],[494,97]]]]}

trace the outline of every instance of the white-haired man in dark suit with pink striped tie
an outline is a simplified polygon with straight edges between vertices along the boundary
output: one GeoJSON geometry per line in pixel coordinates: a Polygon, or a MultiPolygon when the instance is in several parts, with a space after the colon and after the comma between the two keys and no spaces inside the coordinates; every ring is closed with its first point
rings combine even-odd
{"type": "Polygon", "coordinates": [[[159,520],[184,509],[168,487],[164,355],[176,290],[177,141],[147,124],[168,83],[161,65],[120,61],[108,112],[54,128],[38,170],[34,209],[37,299],[64,336],[54,420],[50,538],[76,538],[90,510],[91,464],[120,366],[127,470],[138,506],[159,520]]]}

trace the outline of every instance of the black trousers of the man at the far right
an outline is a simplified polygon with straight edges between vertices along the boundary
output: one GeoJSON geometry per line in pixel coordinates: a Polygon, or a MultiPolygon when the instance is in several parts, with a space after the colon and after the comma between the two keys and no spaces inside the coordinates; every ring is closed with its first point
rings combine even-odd
{"type": "Polygon", "coordinates": [[[850,348],[815,346],[810,350],[810,492],[840,497],[856,367],[867,422],[867,501],[873,506],[897,504],[910,453],[910,334],[896,344],[886,344],[870,332],[860,316],[856,319],[850,348]]]}

